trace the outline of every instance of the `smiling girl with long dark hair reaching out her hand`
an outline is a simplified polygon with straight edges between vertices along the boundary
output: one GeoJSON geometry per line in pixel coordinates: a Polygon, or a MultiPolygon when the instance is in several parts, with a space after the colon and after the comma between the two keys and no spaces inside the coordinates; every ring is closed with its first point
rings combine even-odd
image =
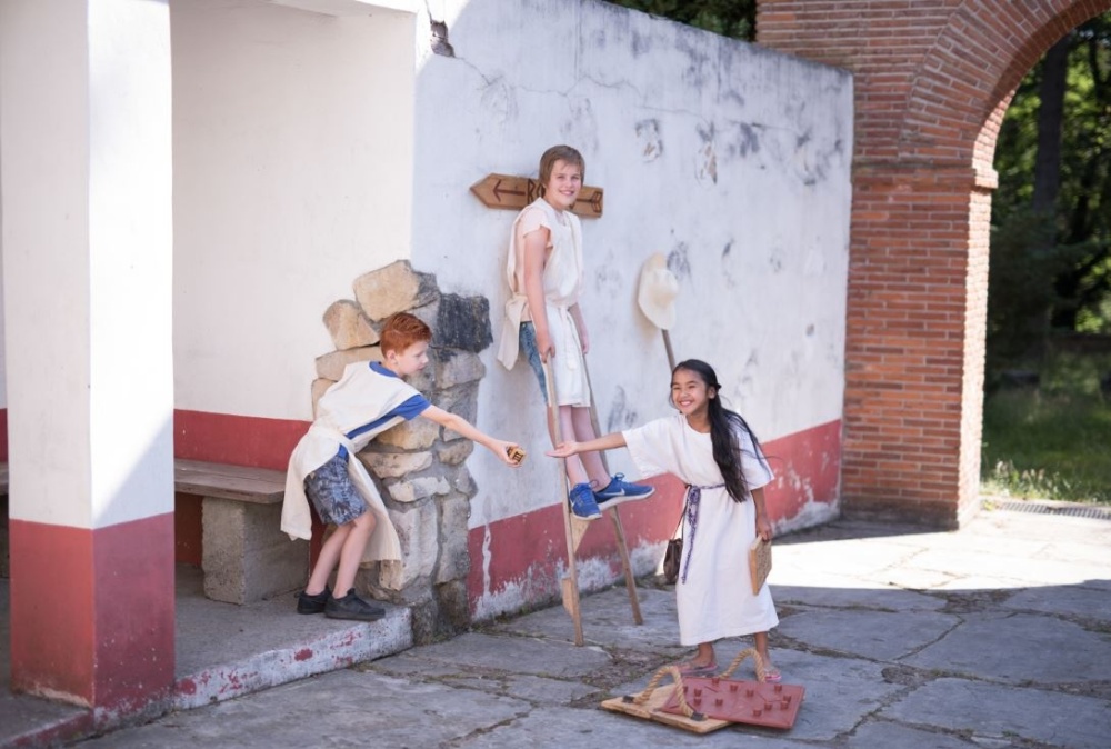
{"type": "Polygon", "coordinates": [[[565,458],[585,450],[628,447],[644,476],[673,473],[687,485],[684,549],[675,583],[680,642],[698,646],[680,667],[692,676],[718,669],[713,643],[723,637],[753,635],[767,667],[768,630],[779,623],[768,586],[752,595],[749,546],[759,533],[772,536],[763,487],[771,469],[744,419],[721,405],[713,368],[688,359],[671,373],[672,417],[613,432],[587,442],[564,442],[548,455],[565,458]]]}

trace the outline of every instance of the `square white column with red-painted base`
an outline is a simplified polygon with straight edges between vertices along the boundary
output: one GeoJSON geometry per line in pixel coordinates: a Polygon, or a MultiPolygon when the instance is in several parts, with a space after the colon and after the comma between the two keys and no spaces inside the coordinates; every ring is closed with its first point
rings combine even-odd
{"type": "Polygon", "coordinates": [[[173,677],[170,99],[166,0],[0,3],[12,682],[97,706],[173,677]]]}

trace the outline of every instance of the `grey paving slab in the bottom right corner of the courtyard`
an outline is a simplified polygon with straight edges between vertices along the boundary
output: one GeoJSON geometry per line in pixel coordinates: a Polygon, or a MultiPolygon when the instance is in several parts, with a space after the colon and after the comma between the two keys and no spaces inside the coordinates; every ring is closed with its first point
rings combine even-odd
{"type": "Polygon", "coordinates": [[[973,739],[1021,739],[1069,749],[1107,749],[1111,737],[1107,700],[962,679],[924,685],[880,715],[947,726],[973,739]]]}

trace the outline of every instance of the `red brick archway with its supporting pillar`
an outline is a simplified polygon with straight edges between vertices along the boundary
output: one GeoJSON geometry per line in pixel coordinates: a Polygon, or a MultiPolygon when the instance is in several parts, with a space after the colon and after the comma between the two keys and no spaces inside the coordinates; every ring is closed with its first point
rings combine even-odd
{"type": "Polygon", "coordinates": [[[842,509],[953,528],[979,492],[991,162],[1015,86],[1111,0],[758,0],[854,76],[842,509]]]}

